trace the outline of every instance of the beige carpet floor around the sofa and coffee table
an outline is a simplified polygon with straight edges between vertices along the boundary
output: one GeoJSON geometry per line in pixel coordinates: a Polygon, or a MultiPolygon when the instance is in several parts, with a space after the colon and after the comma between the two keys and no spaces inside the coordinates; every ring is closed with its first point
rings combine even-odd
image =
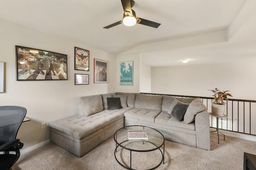
{"type": "MultiPolygon", "coordinates": [[[[256,154],[256,142],[211,133],[211,150],[165,141],[164,164],[158,170],[242,170],[244,152],[256,154]]],[[[113,137],[81,158],[49,143],[20,156],[12,170],[124,170],[114,158],[113,137]]],[[[129,163],[130,154],[118,150],[118,160],[129,163]],[[120,157],[122,156],[122,158],[120,157]]],[[[160,151],[132,153],[132,168],[146,169],[161,160],[160,151]]]]}

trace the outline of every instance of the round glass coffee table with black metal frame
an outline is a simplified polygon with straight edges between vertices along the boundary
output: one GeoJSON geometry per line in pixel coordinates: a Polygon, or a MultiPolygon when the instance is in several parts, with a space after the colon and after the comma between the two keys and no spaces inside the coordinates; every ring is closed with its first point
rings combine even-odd
{"type": "Polygon", "coordinates": [[[132,156],[133,156],[132,152],[147,152],[147,154],[145,153],[140,157],[140,158],[145,157],[145,160],[147,160],[147,156],[158,157],[158,160],[156,160],[156,162],[154,162],[153,165],[152,164],[147,165],[148,166],[147,168],[150,168],[148,170],[154,170],[158,168],[162,163],[164,164],[164,136],[162,135],[162,133],[160,133],[156,129],[153,129],[151,127],[146,127],[146,126],[140,126],[140,125],[123,127],[118,129],[114,134],[114,141],[116,142],[116,149],[114,150],[114,156],[115,156],[116,162],[118,162],[118,164],[120,164],[122,167],[128,170],[134,170],[133,168],[136,167],[136,164],[140,165],[144,161],[142,160],[142,162],[136,162],[135,166],[132,165],[132,161],[134,161],[134,158],[132,159],[132,156]],[[132,130],[143,129],[146,131],[148,135],[148,139],[147,140],[129,140],[128,129],[132,129],[132,130]],[[163,147],[163,150],[161,150],[162,147],[163,147]],[[118,152],[120,152],[120,155],[117,154],[118,152]],[[159,156],[158,156],[158,152],[160,154],[159,156]],[[122,156],[122,154],[125,156],[125,158],[124,156],[122,156]],[[130,162],[129,162],[129,159],[127,159],[126,157],[126,156],[129,156],[129,154],[130,154],[130,162]],[[129,167],[129,164],[130,164],[130,167],[129,167]],[[154,167],[151,168],[150,166],[154,166],[154,167]]]}

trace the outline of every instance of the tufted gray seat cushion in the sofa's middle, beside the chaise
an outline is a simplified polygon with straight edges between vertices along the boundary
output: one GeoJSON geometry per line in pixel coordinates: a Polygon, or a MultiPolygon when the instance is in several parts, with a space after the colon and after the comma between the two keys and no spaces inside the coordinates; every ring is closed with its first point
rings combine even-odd
{"type": "Polygon", "coordinates": [[[154,122],[155,118],[159,115],[160,112],[161,111],[159,110],[133,108],[129,111],[126,111],[124,116],[154,122]]]}

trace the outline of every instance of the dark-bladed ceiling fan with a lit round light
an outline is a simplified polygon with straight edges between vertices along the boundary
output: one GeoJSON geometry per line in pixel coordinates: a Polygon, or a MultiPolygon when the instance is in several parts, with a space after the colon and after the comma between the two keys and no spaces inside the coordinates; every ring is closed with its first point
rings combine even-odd
{"type": "Polygon", "coordinates": [[[111,28],[116,25],[119,25],[120,23],[124,23],[126,26],[132,26],[135,25],[136,23],[140,23],[142,25],[158,28],[161,23],[156,23],[153,21],[145,20],[143,18],[136,17],[135,11],[132,10],[132,7],[134,6],[135,2],[134,0],[121,0],[123,8],[124,8],[124,16],[123,20],[117,21],[115,23],[112,23],[106,27],[103,28],[111,28]]]}

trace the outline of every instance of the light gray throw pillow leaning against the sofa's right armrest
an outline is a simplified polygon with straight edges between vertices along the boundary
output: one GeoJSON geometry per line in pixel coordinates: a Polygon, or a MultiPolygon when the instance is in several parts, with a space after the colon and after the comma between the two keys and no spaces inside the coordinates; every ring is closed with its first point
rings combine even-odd
{"type": "Polygon", "coordinates": [[[200,98],[193,100],[184,115],[184,123],[192,123],[195,120],[196,114],[203,111],[204,108],[205,106],[200,98]]]}

